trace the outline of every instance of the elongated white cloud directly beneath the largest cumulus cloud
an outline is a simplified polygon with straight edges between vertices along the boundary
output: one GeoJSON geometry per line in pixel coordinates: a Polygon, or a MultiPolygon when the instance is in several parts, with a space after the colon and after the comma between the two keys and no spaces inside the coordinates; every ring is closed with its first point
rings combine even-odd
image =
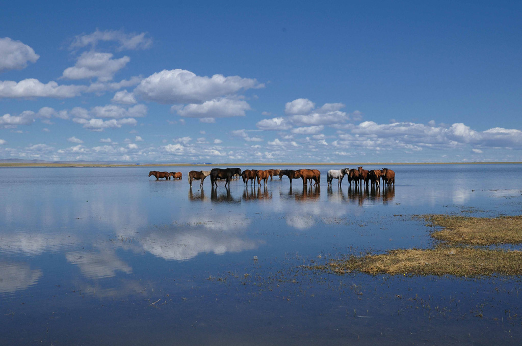
{"type": "Polygon", "coordinates": [[[192,118],[244,117],[245,110],[250,109],[246,101],[222,97],[205,101],[203,104],[188,104],[178,108],[177,114],[192,118]]]}

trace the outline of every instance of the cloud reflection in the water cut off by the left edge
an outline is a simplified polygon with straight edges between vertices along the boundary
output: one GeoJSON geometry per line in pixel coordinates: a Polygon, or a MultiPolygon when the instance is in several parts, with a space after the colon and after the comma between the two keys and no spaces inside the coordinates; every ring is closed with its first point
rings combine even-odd
{"type": "Polygon", "coordinates": [[[12,293],[35,285],[42,276],[24,262],[0,262],[0,293],[12,293]]]}

